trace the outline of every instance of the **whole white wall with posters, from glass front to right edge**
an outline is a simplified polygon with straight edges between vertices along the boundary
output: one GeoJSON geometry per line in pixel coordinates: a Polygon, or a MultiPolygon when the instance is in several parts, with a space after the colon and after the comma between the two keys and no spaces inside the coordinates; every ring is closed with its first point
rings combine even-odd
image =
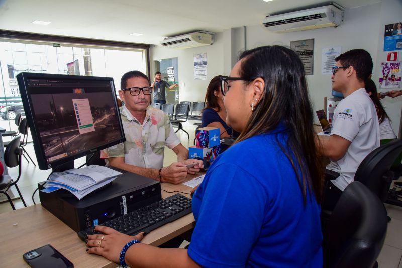
{"type": "MultiPolygon", "coordinates": [[[[372,5],[347,9],[344,24],[337,28],[283,34],[270,32],[261,25],[232,28],[216,34],[217,41],[212,46],[185,50],[152,47],[151,60],[178,57],[180,100],[199,101],[204,99],[209,80],[213,76],[229,74],[229,68],[234,65],[239,52],[245,49],[245,44],[246,49],[273,44],[290,46],[290,41],[314,38],[314,75],[307,76],[307,80],[314,109],[319,110],[324,108],[324,97],[331,97],[331,76],[321,74],[322,49],[341,47],[341,52],[356,48],[367,50],[374,63],[372,78],[378,81],[379,64],[381,61],[386,61],[386,53],[382,52],[384,26],[400,21],[401,10],[402,1],[382,0],[372,5]],[[207,53],[208,56],[208,78],[205,81],[194,81],[192,56],[198,53],[207,53]],[[228,56],[228,53],[232,56],[228,56]]],[[[399,54],[401,54],[399,60],[402,60],[402,51],[399,54]]],[[[383,104],[397,134],[402,97],[394,99],[387,97],[383,100],[383,104]]]]}

